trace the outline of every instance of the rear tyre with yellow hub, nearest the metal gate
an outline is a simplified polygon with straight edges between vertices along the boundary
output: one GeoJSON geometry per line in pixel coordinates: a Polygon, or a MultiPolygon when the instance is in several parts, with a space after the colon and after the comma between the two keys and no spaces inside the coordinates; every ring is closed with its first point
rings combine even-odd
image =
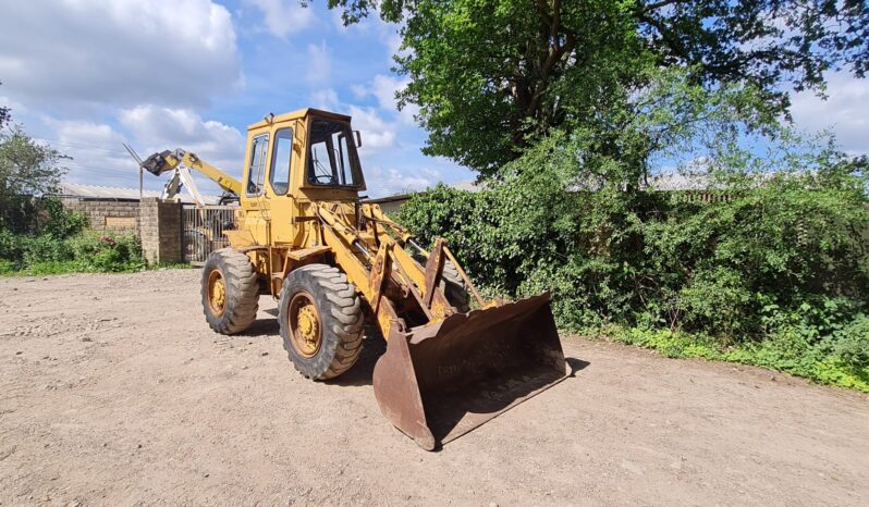
{"type": "Polygon", "coordinates": [[[259,280],[250,259],[238,250],[212,251],[203,268],[203,313],[220,334],[241,333],[256,320],[259,280]]]}

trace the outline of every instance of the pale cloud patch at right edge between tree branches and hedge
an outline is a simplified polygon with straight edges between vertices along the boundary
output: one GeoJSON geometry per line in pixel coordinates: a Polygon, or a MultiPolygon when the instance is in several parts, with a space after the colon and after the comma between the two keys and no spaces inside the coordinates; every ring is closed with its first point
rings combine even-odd
{"type": "Polygon", "coordinates": [[[794,122],[808,132],[831,127],[845,150],[869,153],[869,79],[831,73],[827,95],[823,100],[810,91],[794,94],[794,122]]]}

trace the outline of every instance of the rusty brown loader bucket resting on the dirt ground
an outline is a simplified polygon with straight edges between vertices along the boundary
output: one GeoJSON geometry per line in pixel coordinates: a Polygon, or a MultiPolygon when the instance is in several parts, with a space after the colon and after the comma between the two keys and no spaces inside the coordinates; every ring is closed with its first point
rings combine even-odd
{"type": "Polygon", "coordinates": [[[548,294],[394,331],[375,366],[393,425],[432,450],[566,376],[548,294]]]}

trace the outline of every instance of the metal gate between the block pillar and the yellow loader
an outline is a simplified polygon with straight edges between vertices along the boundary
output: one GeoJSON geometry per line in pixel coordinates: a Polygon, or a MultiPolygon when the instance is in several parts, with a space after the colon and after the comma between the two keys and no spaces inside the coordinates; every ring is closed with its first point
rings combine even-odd
{"type": "Polygon", "coordinates": [[[230,246],[223,231],[235,228],[235,206],[184,205],[181,246],[184,262],[203,264],[213,250],[230,246]]]}

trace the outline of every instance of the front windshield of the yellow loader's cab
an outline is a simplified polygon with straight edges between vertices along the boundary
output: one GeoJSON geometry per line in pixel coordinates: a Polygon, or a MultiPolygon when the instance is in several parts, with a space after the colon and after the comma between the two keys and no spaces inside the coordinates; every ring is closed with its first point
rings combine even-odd
{"type": "Polygon", "coordinates": [[[310,122],[308,183],[329,186],[358,186],[359,159],[350,125],[315,118],[310,122]]]}

